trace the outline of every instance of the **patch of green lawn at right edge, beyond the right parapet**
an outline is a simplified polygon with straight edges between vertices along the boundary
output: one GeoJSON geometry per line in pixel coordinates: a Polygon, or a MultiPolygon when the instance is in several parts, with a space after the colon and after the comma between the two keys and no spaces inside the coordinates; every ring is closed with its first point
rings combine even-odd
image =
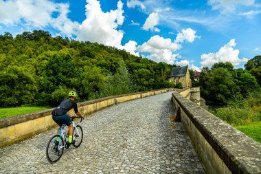
{"type": "Polygon", "coordinates": [[[261,122],[252,122],[251,124],[238,126],[236,129],[261,143],[261,122]]]}

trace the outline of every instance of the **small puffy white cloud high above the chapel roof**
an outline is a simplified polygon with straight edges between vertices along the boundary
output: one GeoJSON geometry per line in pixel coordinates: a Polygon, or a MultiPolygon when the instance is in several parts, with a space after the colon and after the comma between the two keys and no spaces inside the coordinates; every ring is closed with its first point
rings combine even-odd
{"type": "Polygon", "coordinates": [[[183,29],[182,32],[179,32],[179,34],[176,37],[175,42],[176,43],[183,43],[184,41],[188,41],[192,43],[196,38],[200,39],[201,36],[196,36],[196,31],[192,30],[191,28],[183,29]]]}

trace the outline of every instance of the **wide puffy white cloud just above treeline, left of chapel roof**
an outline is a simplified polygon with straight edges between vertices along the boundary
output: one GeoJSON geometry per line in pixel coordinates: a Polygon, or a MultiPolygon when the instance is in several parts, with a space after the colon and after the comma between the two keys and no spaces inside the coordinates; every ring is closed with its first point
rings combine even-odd
{"type": "Polygon", "coordinates": [[[173,64],[179,54],[173,54],[181,45],[173,43],[171,39],[164,39],[159,35],[152,36],[147,42],[138,47],[139,52],[148,52],[148,58],[156,62],[173,64]]]}

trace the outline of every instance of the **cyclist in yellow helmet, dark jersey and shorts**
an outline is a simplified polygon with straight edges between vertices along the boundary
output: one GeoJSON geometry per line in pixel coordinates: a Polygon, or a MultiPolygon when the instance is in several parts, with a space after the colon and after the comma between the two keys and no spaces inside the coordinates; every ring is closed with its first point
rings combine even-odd
{"type": "MultiPolygon", "coordinates": [[[[71,140],[72,135],[73,135],[73,124],[71,123],[71,119],[67,115],[67,112],[73,108],[77,116],[80,116],[83,118],[83,115],[78,111],[78,108],[77,108],[77,104],[75,101],[76,97],[77,97],[76,91],[69,91],[68,96],[69,96],[69,99],[63,100],[62,102],[60,102],[60,105],[52,111],[52,118],[60,127],[63,124],[66,124],[69,127],[69,131],[68,131],[69,144],[68,145],[71,145],[71,144],[74,144],[76,141],[71,140]]],[[[59,132],[59,130],[60,129],[58,129],[58,132],[59,132]]],[[[57,138],[57,141],[59,141],[58,139],[59,138],[57,138]]]]}

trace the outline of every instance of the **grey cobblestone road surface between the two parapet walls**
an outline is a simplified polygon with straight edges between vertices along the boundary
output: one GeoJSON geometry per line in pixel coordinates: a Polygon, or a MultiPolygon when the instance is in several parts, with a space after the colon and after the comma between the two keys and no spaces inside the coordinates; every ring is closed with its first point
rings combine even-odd
{"type": "Polygon", "coordinates": [[[114,105],[85,118],[84,140],[49,164],[45,146],[56,130],[0,149],[0,173],[205,173],[180,122],[171,92],[114,105]]]}

